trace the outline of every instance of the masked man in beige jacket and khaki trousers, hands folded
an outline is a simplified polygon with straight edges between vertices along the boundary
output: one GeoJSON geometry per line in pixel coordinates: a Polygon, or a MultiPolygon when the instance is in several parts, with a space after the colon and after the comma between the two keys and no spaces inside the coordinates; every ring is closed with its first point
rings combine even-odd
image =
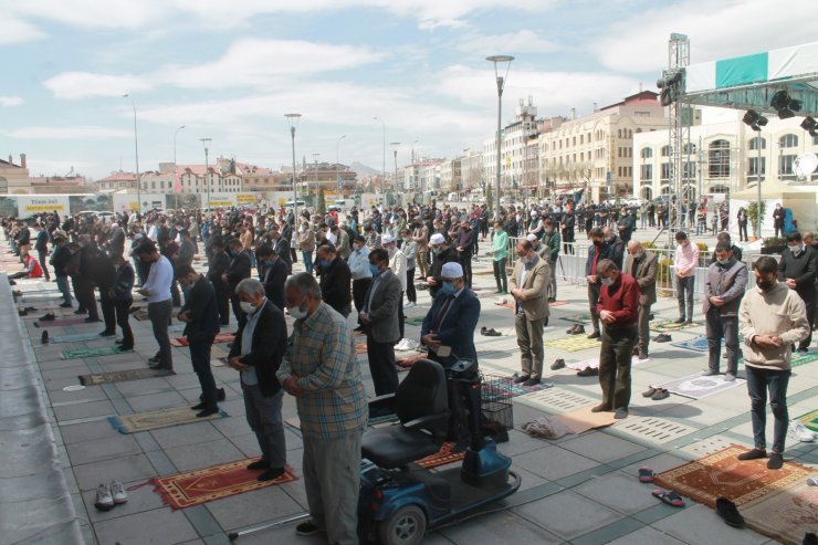
{"type": "Polygon", "coordinates": [[[548,323],[550,272],[548,262],[537,255],[531,241],[517,242],[516,252],[511,295],[514,297],[514,328],[522,374],[514,381],[535,386],[543,378],[543,327],[548,323]]]}

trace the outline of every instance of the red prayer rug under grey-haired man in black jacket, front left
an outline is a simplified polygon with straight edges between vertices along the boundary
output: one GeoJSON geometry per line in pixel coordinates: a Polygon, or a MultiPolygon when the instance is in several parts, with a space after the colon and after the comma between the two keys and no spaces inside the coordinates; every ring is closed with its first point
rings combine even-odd
{"type": "Polygon", "coordinates": [[[151,479],[151,484],[166,505],[178,510],[297,480],[292,469],[286,468],[279,479],[260,482],[256,478],[261,472],[248,469],[248,464],[255,460],[237,460],[177,475],[159,476],[151,479]]]}

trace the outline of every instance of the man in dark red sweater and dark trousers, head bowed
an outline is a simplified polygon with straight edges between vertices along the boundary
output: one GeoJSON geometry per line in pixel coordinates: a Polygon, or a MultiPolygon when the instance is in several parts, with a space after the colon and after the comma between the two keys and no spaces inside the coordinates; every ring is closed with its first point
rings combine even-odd
{"type": "Polygon", "coordinates": [[[611,260],[598,265],[602,289],[597,313],[602,321],[599,349],[599,385],[602,402],[592,412],[614,411],[614,418],[628,417],[630,403],[630,365],[639,318],[639,285],[633,276],[619,271],[611,260]]]}

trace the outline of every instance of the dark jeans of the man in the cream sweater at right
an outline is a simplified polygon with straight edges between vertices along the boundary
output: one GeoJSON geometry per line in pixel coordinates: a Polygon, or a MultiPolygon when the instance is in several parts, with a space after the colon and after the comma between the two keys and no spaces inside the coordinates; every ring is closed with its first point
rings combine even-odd
{"type": "Polygon", "coordinates": [[[765,449],[767,426],[767,391],[769,390],[769,409],[773,411],[773,452],[784,453],[784,441],[787,438],[789,413],[787,412],[787,385],[791,370],[763,369],[751,365],[744,366],[747,371],[747,394],[749,395],[749,415],[753,420],[753,441],[756,449],[765,449]]]}

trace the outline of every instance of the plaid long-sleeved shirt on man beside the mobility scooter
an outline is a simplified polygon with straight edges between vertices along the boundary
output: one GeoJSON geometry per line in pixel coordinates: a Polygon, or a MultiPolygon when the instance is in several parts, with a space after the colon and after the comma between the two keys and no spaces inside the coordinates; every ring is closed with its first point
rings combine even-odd
{"type": "Polygon", "coordinates": [[[312,316],[295,321],[276,376],[284,384],[293,374],[306,390],[296,398],[304,437],[333,440],[364,429],[366,390],[353,331],[326,303],[312,316]]]}

